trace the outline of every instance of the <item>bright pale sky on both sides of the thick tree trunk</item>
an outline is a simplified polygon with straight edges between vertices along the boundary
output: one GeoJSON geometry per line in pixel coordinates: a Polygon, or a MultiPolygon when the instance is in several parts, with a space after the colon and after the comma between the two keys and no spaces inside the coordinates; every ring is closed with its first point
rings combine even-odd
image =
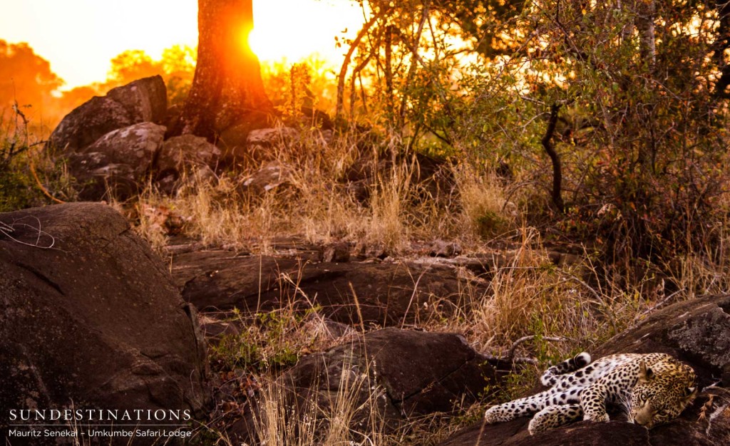
{"type": "MultiPolygon", "coordinates": [[[[320,53],[334,66],[363,23],[350,0],[253,0],[252,47],[264,61],[296,62],[320,53]]],[[[110,60],[125,50],[159,58],[172,45],[195,47],[197,0],[0,0],[0,39],[28,42],[66,81],[63,89],[103,81],[110,60]]]]}

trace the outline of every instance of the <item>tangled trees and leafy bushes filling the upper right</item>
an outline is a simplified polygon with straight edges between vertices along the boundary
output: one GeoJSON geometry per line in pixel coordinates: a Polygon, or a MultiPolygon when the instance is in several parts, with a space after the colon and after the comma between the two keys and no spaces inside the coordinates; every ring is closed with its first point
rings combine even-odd
{"type": "Polygon", "coordinates": [[[720,237],[726,5],[359,3],[371,20],[346,42],[357,45],[342,92],[351,119],[416,150],[433,152],[435,137],[442,153],[509,166],[533,224],[548,218],[566,237],[592,239],[610,264],[666,262],[720,237]],[[565,214],[547,199],[545,138],[565,214]]]}

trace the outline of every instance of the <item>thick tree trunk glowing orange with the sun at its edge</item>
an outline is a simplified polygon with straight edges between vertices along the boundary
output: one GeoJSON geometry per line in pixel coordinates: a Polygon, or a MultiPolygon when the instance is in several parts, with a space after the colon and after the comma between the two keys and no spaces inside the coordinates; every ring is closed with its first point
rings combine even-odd
{"type": "Polygon", "coordinates": [[[198,63],[173,134],[214,140],[237,124],[266,123],[272,104],[251,51],[253,0],[198,0],[198,63]]]}

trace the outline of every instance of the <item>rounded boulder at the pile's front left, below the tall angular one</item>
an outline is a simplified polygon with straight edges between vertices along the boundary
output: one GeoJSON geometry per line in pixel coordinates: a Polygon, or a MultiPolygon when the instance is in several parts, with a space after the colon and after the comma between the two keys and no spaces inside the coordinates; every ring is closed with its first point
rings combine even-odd
{"type": "Polygon", "coordinates": [[[153,169],[164,136],[164,126],[139,123],[110,131],[69,154],[69,173],[79,184],[79,198],[100,200],[107,190],[117,199],[137,193],[153,169]]]}

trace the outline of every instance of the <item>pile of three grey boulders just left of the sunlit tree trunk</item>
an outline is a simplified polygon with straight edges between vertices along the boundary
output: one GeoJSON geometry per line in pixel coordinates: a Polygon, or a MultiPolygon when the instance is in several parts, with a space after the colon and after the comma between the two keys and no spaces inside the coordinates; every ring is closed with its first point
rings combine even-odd
{"type": "Polygon", "coordinates": [[[114,88],[66,115],[50,144],[68,161],[80,199],[128,199],[150,181],[173,193],[185,175],[212,177],[220,150],[193,135],[164,140],[167,128],[158,124],[166,120],[166,106],[164,82],[155,76],[114,88]]]}

